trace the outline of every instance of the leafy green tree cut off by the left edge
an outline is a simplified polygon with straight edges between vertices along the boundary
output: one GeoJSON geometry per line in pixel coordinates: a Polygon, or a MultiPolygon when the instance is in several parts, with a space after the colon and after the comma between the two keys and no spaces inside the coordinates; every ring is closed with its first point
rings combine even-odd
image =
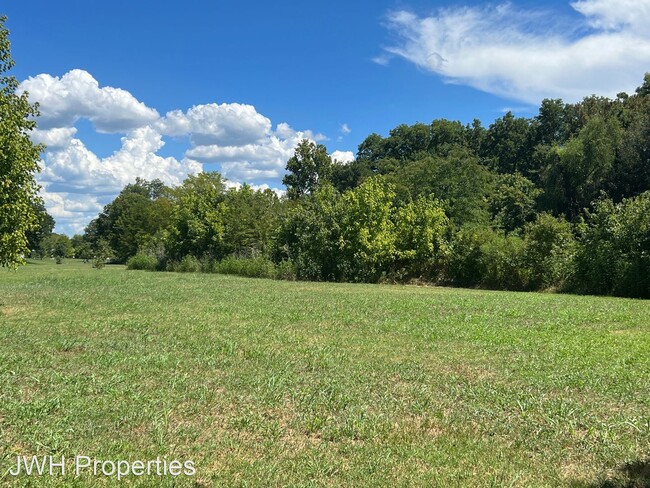
{"type": "Polygon", "coordinates": [[[38,106],[17,93],[18,81],[8,74],[14,61],[6,21],[0,17],[0,266],[15,268],[29,253],[27,233],[39,224],[34,175],[44,147],[29,138],[38,106]]]}

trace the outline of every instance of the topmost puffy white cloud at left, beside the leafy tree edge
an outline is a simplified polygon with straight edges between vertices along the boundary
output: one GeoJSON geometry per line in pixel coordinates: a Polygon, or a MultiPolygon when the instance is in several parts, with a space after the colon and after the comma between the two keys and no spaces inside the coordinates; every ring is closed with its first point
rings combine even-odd
{"type": "Polygon", "coordinates": [[[100,88],[87,71],[75,69],[62,77],[40,74],[20,84],[32,101],[40,103],[41,129],[71,127],[80,118],[90,120],[100,132],[125,132],[150,124],[158,112],[139,102],[129,92],[100,88]]]}

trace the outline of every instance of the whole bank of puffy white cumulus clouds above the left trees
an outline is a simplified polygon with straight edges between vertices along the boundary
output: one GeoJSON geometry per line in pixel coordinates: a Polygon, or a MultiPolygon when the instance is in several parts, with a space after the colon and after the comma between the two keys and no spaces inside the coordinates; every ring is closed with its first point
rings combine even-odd
{"type": "Polygon", "coordinates": [[[82,232],[137,177],[178,185],[211,164],[231,186],[248,182],[256,189],[269,188],[269,182],[283,176],[302,139],[326,139],[286,123],[274,130],[255,107],[239,103],[196,105],[161,117],[128,91],[100,87],[83,70],[30,77],[20,91],[40,104],[39,128],[31,133],[34,142],[47,146],[38,180],[57,231],[68,234],[82,232]],[[98,132],[122,134],[120,148],[99,157],[78,137],[75,123],[80,119],[91,121],[98,132]],[[163,157],[164,137],[185,140],[189,147],[182,157],[163,157]]]}

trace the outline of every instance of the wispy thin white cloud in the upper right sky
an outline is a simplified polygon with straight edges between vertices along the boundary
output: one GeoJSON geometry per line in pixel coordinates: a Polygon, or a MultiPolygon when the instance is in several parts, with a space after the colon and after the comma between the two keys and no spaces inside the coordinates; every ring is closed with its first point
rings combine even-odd
{"type": "Polygon", "coordinates": [[[510,3],[388,15],[396,42],[375,61],[404,58],[446,81],[538,104],[633,92],[650,66],[650,0],[582,0],[578,19],[510,3]]]}

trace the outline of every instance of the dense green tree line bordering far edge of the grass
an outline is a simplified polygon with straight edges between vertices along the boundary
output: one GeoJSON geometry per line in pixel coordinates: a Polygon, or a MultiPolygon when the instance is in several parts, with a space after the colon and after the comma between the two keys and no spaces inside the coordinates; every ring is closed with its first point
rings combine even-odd
{"type": "Polygon", "coordinates": [[[489,127],[400,125],[349,164],[305,140],[283,183],[138,180],[77,246],[143,269],[650,297],[650,75],[489,127]]]}

